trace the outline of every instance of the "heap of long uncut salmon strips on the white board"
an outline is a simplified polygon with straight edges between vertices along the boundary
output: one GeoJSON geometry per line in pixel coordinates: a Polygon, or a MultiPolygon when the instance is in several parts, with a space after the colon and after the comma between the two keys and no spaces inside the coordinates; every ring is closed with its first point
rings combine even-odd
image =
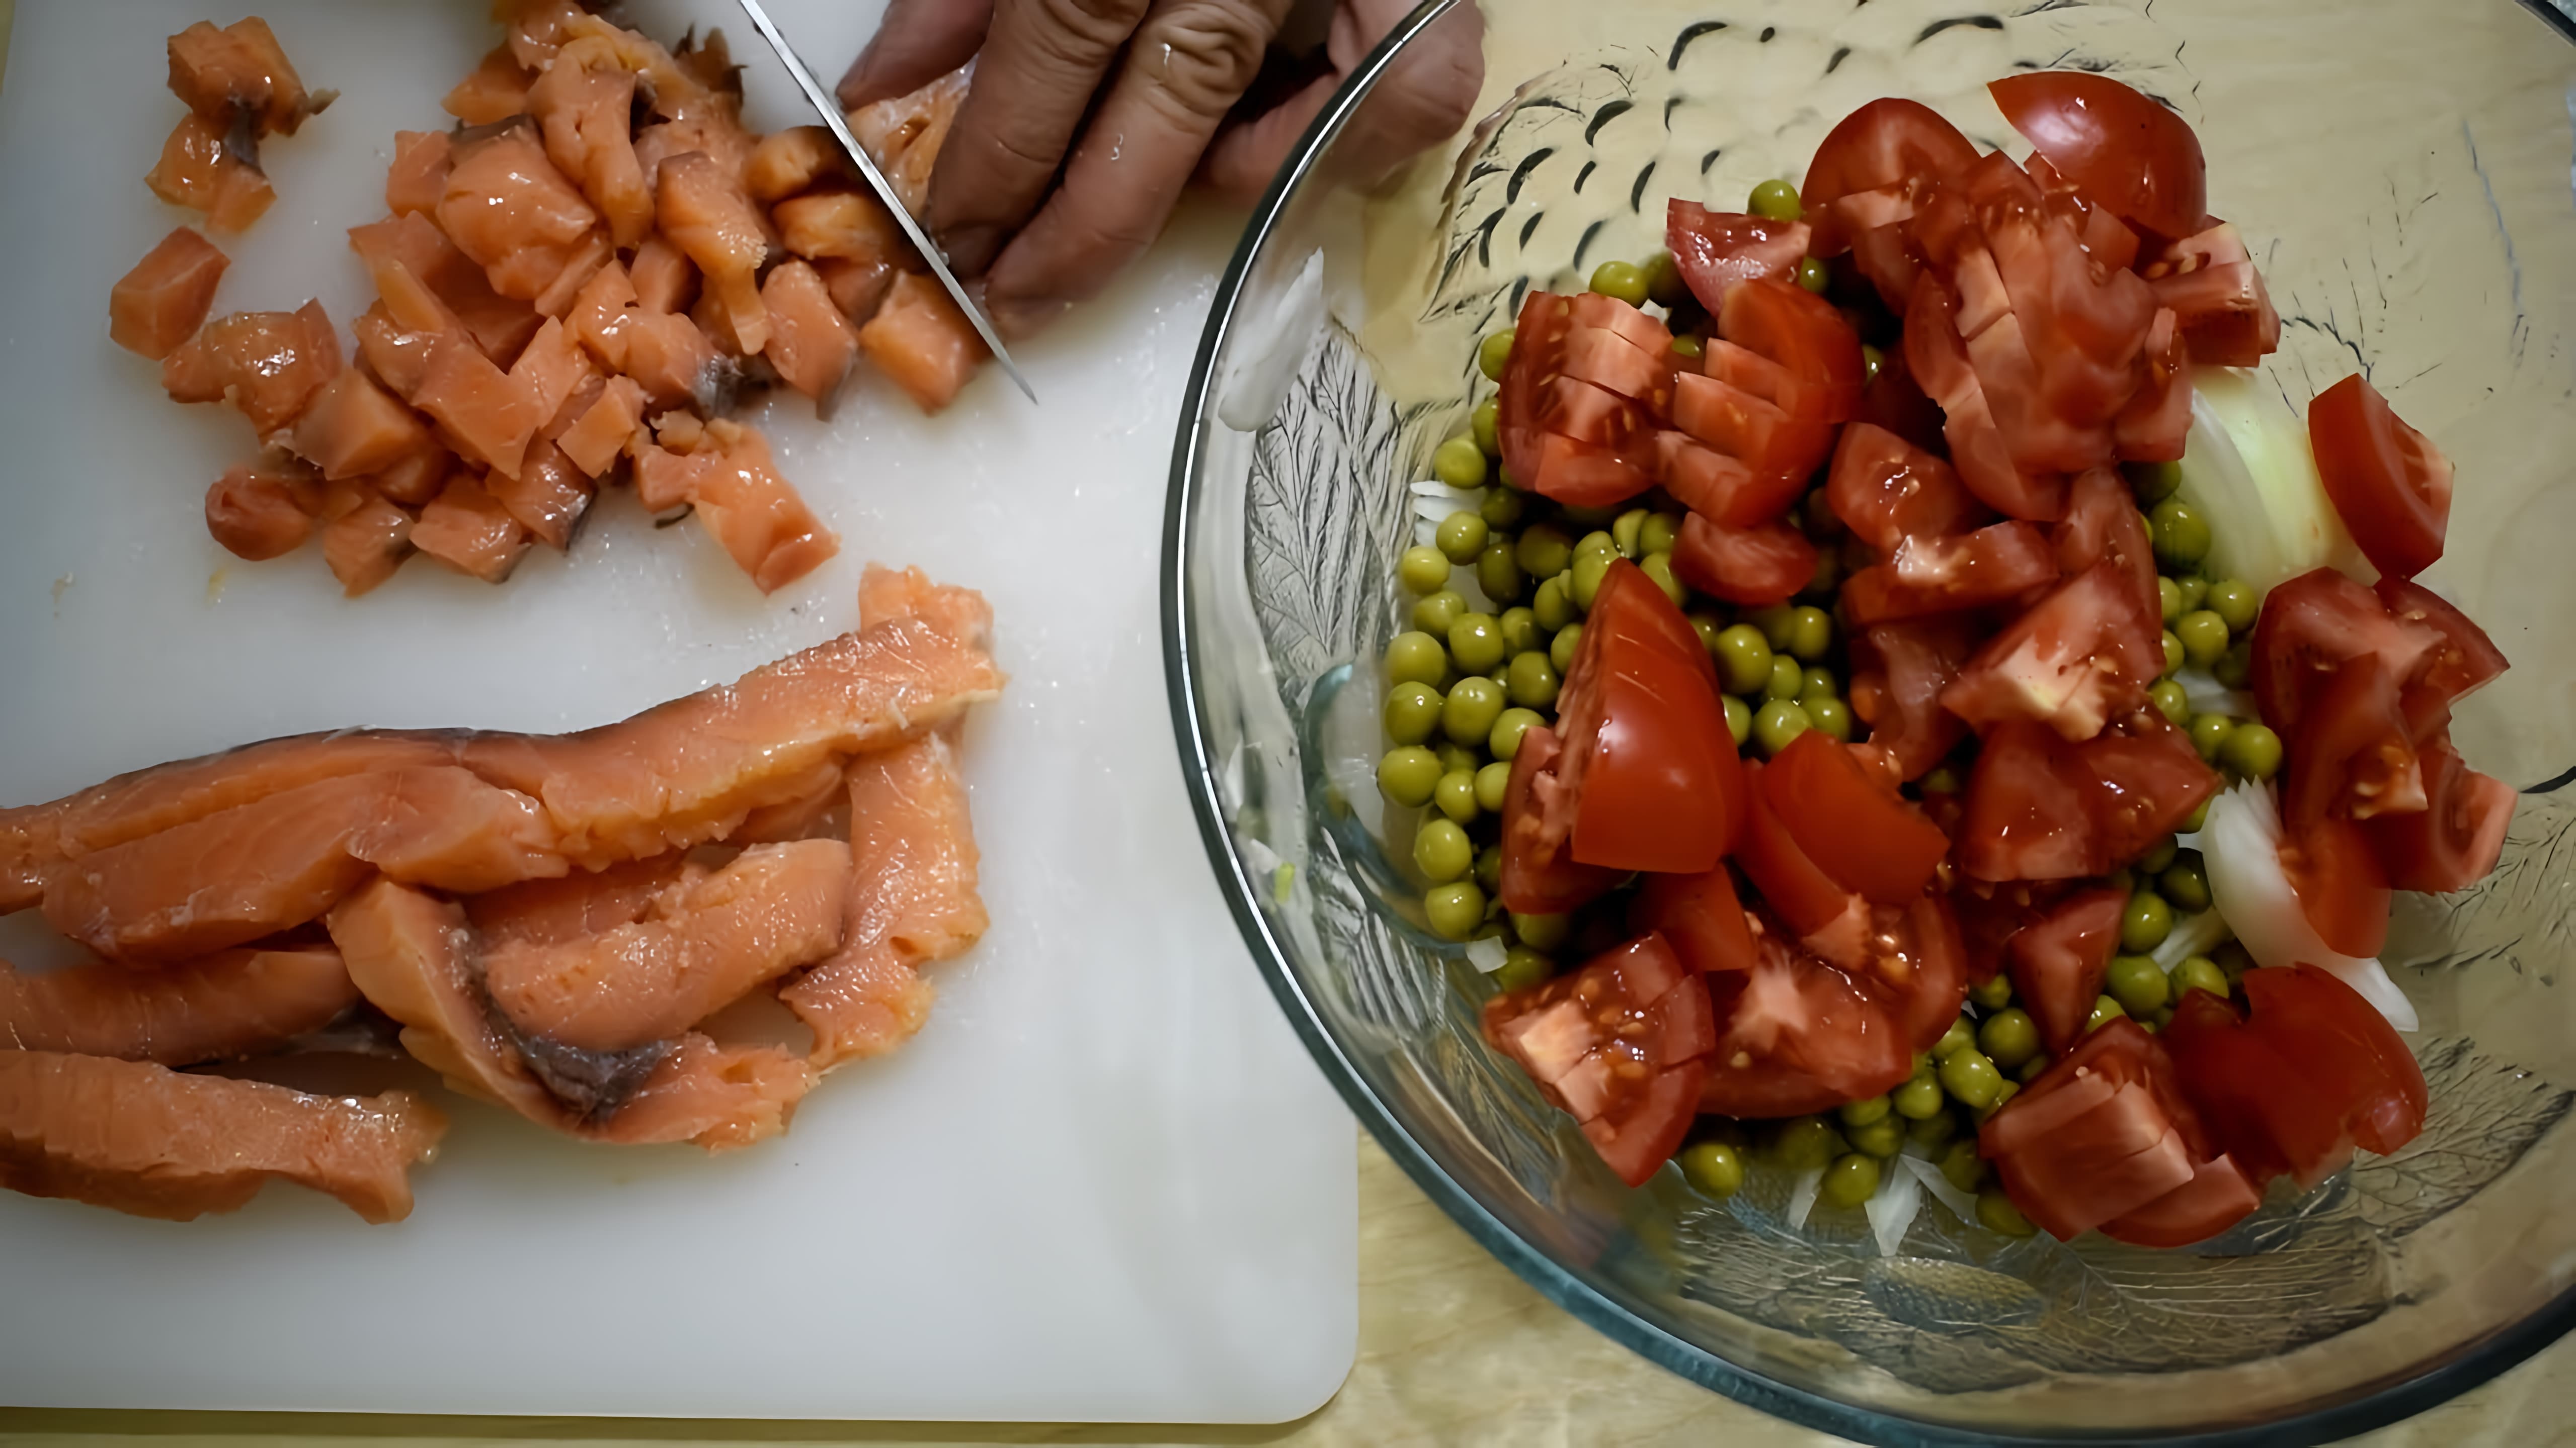
{"type": "Polygon", "coordinates": [[[871,567],[858,631],[621,724],[304,734],[0,809],[0,915],[85,951],[0,964],[0,1185],[399,1219],[438,1108],[216,1072],[350,1025],[582,1141],[786,1131],[984,935],[958,727],[1002,683],[981,595],[871,567]],[[809,1049],[726,1025],[760,995],[809,1049]]]}

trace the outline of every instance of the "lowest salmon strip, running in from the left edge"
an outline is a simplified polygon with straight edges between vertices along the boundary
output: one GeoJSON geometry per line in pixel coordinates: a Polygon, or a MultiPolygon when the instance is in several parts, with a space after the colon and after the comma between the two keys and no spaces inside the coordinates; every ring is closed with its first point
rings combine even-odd
{"type": "Polygon", "coordinates": [[[304,1095],[147,1062],[0,1051],[0,1185],[193,1221],[237,1211],[270,1177],[368,1221],[412,1214],[415,1162],[448,1118],[407,1090],[304,1095]]]}

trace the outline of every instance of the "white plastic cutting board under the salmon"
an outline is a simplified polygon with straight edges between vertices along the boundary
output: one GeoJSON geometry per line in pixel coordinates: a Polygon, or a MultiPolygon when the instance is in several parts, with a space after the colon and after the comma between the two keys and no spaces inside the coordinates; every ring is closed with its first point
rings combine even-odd
{"type": "MultiPolygon", "coordinates": [[[[240,3],[240,0],[237,0],[240,3]]],[[[639,8],[649,21],[675,5],[639,8]]],[[[899,1056],[729,1157],[569,1144],[446,1098],[420,1206],[366,1226],[270,1185],[196,1224],[0,1193],[0,1402],[477,1415],[1278,1422],[1352,1360],[1352,1129],[1216,894],[1164,709],[1172,425],[1236,219],[1190,214],[1108,299],[920,417],[760,417],[842,554],[762,600],[683,523],[600,508],[502,587],[415,559],[340,600],[242,564],[201,495],[252,438],[106,338],[180,214],[162,36],[242,10],[21,0],[0,85],[0,804],[343,724],[574,729],[850,629],[866,559],[981,587],[1007,696],[969,729],[992,935],[899,1056]]],[[[482,0],[265,3],[340,103],[265,152],[278,204],[216,312],[366,291],[397,129],[497,41],[482,0]]],[[[878,5],[775,3],[837,72],[878,5]]],[[[750,39],[724,5],[698,8],[750,39]]],[[[662,39],[680,26],[652,26],[662,39]]],[[[737,54],[742,49],[737,46],[737,54]]],[[[750,67],[752,124],[791,124],[750,67]]],[[[26,951],[0,922],[0,953],[26,951]]]]}

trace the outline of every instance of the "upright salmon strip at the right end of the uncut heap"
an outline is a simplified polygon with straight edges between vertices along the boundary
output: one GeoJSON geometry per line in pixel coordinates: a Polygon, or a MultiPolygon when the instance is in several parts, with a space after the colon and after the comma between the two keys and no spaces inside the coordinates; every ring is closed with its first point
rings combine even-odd
{"type": "Polygon", "coordinates": [[[850,858],[840,953],[778,992],[814,1028],[817,1069],[920,1031],[933,997],[920,969],[966,953],[989,925],[966,781],[943,734],[850,760],[850,858]]]}

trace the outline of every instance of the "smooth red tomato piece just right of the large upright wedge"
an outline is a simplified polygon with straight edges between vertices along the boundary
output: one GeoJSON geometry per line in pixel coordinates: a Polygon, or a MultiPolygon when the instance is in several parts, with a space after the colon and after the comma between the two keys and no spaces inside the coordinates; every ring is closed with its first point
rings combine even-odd
{"type": "Polygon", "coordinates": [[[1875,904],[1911,904],[1950,840],[1883,781],[1814,729],[1759,773],[1772,817],[1826,879],[1875,904]]]}

